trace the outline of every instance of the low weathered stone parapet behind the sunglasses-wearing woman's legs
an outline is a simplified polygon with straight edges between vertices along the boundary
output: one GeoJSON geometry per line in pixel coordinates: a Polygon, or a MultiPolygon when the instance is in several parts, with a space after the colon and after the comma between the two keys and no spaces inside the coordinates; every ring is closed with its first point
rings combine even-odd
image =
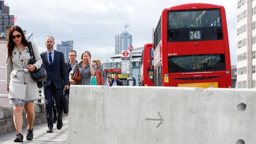
{"type": "MultiPolygon", "coordinates": [[[[34,104],[35,111],[35,124],[45,123],[45,104],[34,104]]],[[[23,124],[22,127],[26,127],[28,125],[26,119],[26,112],[23,108],[22,111],[23,124]]],[[[15,130],[15,125],[13,123],[13,105],[1,105],[0,106],[0,134],[4,134],[6,132],[10,132],[15,130]]]]}

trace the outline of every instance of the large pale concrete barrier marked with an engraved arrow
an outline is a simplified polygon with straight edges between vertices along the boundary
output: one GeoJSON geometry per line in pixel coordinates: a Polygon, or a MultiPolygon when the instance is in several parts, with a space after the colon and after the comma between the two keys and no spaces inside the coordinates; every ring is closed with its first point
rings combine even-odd
{"type": "Polygon", "coordinates": [[[256,143],[253,89],[71,86],[68,143],[256,143]]]}

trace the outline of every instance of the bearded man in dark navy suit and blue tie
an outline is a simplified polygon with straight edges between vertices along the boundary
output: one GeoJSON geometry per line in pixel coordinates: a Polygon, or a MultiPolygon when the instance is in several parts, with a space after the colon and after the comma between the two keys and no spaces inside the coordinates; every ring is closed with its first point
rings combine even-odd
{"type": "Polygon", "coordinates": [[[47,72],[47,79],[43,82],[43,87],[45,95],[46,119],[48,122],[48,133],[53,132],[51,111],[53,105],[52,97],[54,97],[55,107],[57,110],[57,129],[61,129],[63,125],[63,89],[69,89],[64,54],[60,51],[54,50],[54,44],[55,42],[53,37],[46,37],[45,45],[47,47],[47,51],[40,54],[43,60],[43,65],[47,72]]]}

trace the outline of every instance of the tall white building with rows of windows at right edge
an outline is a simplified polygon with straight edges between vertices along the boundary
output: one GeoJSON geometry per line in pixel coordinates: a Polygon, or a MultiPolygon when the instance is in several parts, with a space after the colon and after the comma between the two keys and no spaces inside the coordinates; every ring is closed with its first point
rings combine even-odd
{"type": "Polygon", "coordinates": [[[255,88],[256,1],[237,0],[237,86],[255,88]]]}

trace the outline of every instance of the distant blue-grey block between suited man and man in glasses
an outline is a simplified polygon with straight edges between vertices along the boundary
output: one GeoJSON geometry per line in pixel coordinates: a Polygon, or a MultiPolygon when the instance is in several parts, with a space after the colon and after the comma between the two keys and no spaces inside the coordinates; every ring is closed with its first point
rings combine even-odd
{"type": "Polygon", "coordinates": [[[56,50],[63,52],[65,56],[65,62],[69,61],[69,58],[67,57],[67,55],[69,51],[73,50],[73,44],[74,44],[74,41],[69,40],[69,41],[61,41],[61,44],[57,45],[56,50]]]}

